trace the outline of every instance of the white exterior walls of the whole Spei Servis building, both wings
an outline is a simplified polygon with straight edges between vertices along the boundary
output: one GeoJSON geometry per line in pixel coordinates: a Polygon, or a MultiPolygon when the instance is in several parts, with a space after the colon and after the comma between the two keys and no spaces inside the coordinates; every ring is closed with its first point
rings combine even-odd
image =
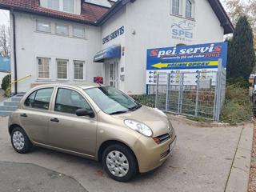
{"type": "MultiPolygon", "coordinates": [[[[66,82],[73,82],[73,60],[83,60],[86,62],[85,81],[92,82],[95,76],[103,76],[106,83],[107,77],[104,70],[108,69],[105,69],[106,65],[102,63],[93,63],[94,55],[108,46],[120,44],[125,47],[125,55],[121,56],[118,70],[119,77],[125,74],[125,81],[119,80],[118,88],[128,94],[144,94],[146,93],[147,49],[176,46],[178,43],[191,45],[223,41],[224,30],[209,2],[195,1],[194,10],[194,19],[186,19],[194,23],[193,38],[188,41],[172,37],[173,23],[185,18],[170,14],[170,0],[138,0],[128,3],[102,27],[86,26],[86,39],[35,32],[34,25],[37,17],[16,13],[18,78],[32,74],[32,78],[18,83],[18,92],[28,90],[32,82],[44,83],[37,78],[36,58],[40,56],[51,58],[50,78],[53,82],[58,82],[55,59],[66,58],[70,60],[69,81],[66,82]],[[102,45],[102,38],[121,26],[125,27],[125,34],[102,45]],[[121,73],[121,67],[124,67],[124,73],[121,73]]],[[[54,19],[51,21],[56,22],[54,19]]],[[[12,18],[10,18],[10,26],[12,27],[12,18]]],[[[12,54],[12,73],[14,72],[13,60],[12,54]]]]}

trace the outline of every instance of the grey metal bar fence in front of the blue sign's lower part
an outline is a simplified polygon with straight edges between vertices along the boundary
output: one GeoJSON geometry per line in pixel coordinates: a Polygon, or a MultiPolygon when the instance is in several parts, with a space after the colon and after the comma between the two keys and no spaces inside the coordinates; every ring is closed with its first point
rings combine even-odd
{"type": "Polygon", "coordinates": [[[226,70],[221,62],[218,71],[158,73],[157,85],[148,87],[158,109],[214,121],[219,121],[225,90],[226,70]]]}

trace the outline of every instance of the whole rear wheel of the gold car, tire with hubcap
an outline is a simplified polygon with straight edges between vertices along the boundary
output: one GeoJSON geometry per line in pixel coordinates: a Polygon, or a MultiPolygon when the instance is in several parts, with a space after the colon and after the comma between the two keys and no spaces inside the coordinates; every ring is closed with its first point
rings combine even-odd
{"type": "Polygon", "coordinates": [[[25,130],[21,127],[15,127],[10,134],[11,144],[19,154],[26,154],[30,152],[32,143],[26,135],[25,130]]]}

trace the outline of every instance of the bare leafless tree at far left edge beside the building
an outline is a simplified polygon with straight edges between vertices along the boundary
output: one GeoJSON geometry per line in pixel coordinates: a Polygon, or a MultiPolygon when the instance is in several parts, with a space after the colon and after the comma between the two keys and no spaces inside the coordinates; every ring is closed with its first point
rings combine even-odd
{"type": "Polygon", "coordinates": [[[10,57],[10,29],[0,26],[0,54],[2,57],[10,57]]]}

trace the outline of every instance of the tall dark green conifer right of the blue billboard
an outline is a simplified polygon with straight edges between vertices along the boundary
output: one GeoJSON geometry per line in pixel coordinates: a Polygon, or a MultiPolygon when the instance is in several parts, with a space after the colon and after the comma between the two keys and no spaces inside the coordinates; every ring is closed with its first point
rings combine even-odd
{"type": "Polygon", "coordinates": [[[254,35],[246,16],[238,19],[230,40],[227,78],[248,79],[255,66],[254,35]]]}

